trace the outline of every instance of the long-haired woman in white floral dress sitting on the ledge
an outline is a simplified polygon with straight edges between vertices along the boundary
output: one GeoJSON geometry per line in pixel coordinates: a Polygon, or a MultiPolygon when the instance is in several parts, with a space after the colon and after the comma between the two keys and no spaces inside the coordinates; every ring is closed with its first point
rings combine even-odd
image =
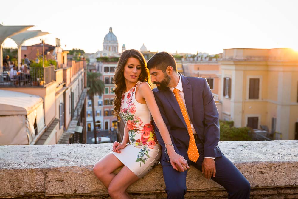
{"type": "MultiPolygon", "coordinates": [[[[161,147],[150,122],[151,115],[163,140],[169,144],[168,152],[173,147],[151,90],[149,70],[142,53],[138,50],[123,52],[113,79],[116,95],[114,115],[118,119],[121,115],[126,122],[124,136],[122,143],[114,142],[112,152],[98,161],[93,171],[108,188],[111,198],[130,198],[126,189],[159,163],[161,147]],[[113,171],[121,166],[120,172],[114,174],[113,171]]],[[[171,159],[175,155],[169,156],[171,159]]]]}

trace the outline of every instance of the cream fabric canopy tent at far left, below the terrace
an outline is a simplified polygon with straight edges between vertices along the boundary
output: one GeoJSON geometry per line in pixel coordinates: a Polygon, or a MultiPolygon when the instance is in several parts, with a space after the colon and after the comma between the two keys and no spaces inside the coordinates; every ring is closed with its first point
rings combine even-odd
{"type": "Polygon", "coordinates": [[[0,90],[0,145],[31,144],[44,126],[40,96],[0,90]]]}

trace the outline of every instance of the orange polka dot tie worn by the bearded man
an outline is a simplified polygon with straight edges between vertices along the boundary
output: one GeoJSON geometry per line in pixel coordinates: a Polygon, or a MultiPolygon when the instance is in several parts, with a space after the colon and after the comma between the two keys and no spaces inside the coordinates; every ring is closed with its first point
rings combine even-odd
{"type": "Polygon", "coordinates": [[[189,146],[188,146],[188,150],[187,150],[187,155],[188,158],[193,161],[193,162],[197,162],[198,158],[199,158],[199,152],[198,152],[198,148],[195,144],[195,138],[193,137],[193,130],[191,129],[190,126],[190,121],[187,115],[187,111],[186,108],[184,106],[183,100],[181,95],[179,94],[180,90],[174,88],[173,93],[176,97],[176,100],[178,101],[179,107],[181,109],[183,118],[185,120],[186,126],[187,126],[187,131],[189,134],[189,146]]]}

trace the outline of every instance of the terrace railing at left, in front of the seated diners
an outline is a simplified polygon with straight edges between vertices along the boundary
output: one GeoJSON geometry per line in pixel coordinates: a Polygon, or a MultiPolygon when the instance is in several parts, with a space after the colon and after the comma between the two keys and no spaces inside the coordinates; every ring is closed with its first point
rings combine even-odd
{"type": "Polygon", "coordinates": [[[4,71],[0,74],[1,86],[44,86],[55,80],[55,66],[31,67],[27,72],[4,71]]]}

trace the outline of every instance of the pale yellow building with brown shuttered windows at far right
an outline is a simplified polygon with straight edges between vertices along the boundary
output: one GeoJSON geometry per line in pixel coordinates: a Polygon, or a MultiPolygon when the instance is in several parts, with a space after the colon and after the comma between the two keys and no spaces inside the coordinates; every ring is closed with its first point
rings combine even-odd
{"type": "Polygon", "coordinates": [[[222,119],[236,127],[280,132],[298,139],[298,53],[289,48],[224,49],[221,64],[222,119]]]}

